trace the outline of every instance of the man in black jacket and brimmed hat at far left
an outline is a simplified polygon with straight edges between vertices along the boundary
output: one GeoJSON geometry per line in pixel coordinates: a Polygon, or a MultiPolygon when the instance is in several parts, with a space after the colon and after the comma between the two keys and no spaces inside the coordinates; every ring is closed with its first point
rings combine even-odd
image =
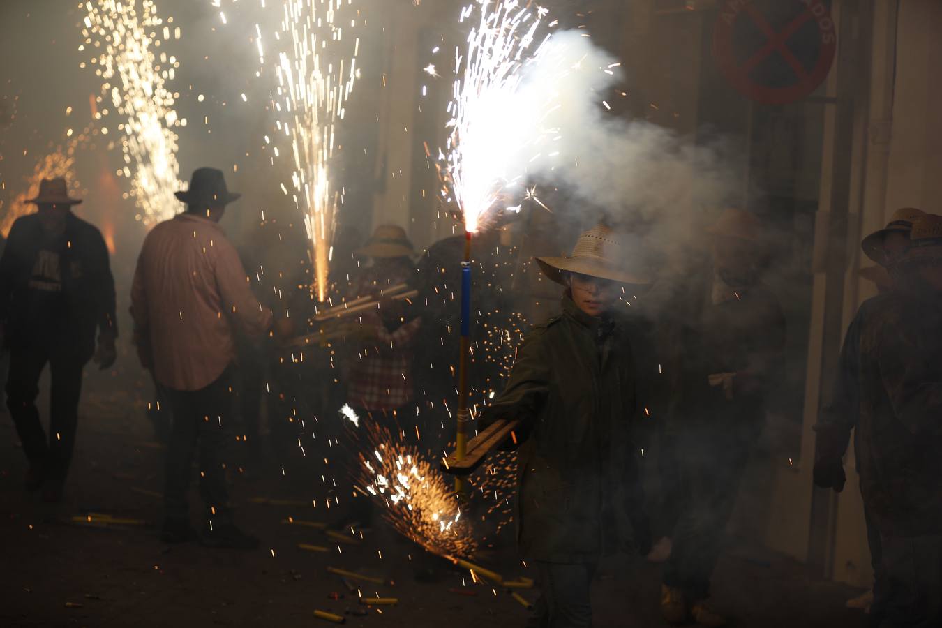
{"type": "Polygon", "coordinates": [[[103,369],[115,362],[115,286],[105,239],[72,213],[82,201],[69,196],[65,179],[43,179],[39,195],[26,202],[39,211],[17,218],[0,259],[7,403],[29,459],[26,489],[45,484],[44,499],[57,502],[72,459],[82,369],[93,356],[103,369]],[[48,442],[36,408],[46,363],[52,371],[48,442]]]}

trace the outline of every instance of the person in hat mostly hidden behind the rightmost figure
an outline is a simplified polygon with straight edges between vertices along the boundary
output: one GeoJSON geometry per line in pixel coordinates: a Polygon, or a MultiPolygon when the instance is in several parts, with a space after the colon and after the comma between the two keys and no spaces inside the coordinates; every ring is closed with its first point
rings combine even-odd
{"type": "MultiPolygon", "coordinates": [[[[870,233],[861,243],[864,253],[879,266],[872,266],[864,271],[874,278],[881,295],[898,289],[893,277],[899,278],[901,256],[909,248],[909,234],[913,220],[925,214],[914,207],[896,210],[884,229],[870,233]],[[880,271],[880,272],[877,272],[880,271]],[[882,285],[881,285],[882,284],[882,285]]],[[[857,457],[856,468],[861,465],[861,436],[857,427],[860,415],[860,381],[858,364],[860,361],[860,332],[873,308],[878,307],[881,298],[870,298],[857,309],[840,349],[838,372],[829,403],[822,409],[815,443],[814,481],[822,489],[843,491],[847,480],[844,474],[843,456],[847,451],[854,431],[854,454],[857,457]]],[[[873,587],[863,595],[848,601],[853,608],[862,608],[871,617],[876,618],[882,611],[882,597],[887,588],[885,569],[883,568],[883,550],[880,544],[880,532],[872,521],[869,508],[864,507],[864,520],[867,523],[867,540],[870,549],[870,565],[873,568],[873,587]]]]}

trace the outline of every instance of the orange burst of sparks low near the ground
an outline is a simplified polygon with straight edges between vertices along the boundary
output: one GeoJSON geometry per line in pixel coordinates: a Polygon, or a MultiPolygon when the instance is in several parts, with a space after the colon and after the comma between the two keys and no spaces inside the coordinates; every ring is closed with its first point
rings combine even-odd
{"type": "Polygon", "coordinates": [[[432,554],[473,556],[478,543],[437,460],[431,464],[418,448],[375,423],[366,426],[362,443],[361,491],[386,507],[386,521],[432,554]]]}

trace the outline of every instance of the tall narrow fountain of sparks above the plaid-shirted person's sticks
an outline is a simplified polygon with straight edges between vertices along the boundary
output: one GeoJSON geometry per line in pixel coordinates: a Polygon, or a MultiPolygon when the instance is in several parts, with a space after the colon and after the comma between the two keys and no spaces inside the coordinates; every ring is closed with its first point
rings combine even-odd
{"type": "MultiPolygon", "coordinates": [[[[343,201],[340,188],[331,180],[336,127],[344,119],[345,105],[360,75],[356,65],[360,40],[344,39],[345,29],[356,28],[360,18],[359,12],[352,17],[346,14],[352,4],[353,0],[285,0],[271,38],[282,49],[266,54],[263,39],[268,37],[259,24],[253,38],[261,65],[259,76],[267,73],[268,60],[277,77],[272,103],[277,136],[290,141],[292,163],[291,179],[281,187],[304,212],[315,267],[313,287],[321,302],[327,298],[335,217],[343,201]]],[[[264,0],[262,8],[266,8],[264,0]]],[[[221,11],[219,16],[225,22],[221,11]]],[[[274,154],[278,156],[277,148],[274,154]]]]}

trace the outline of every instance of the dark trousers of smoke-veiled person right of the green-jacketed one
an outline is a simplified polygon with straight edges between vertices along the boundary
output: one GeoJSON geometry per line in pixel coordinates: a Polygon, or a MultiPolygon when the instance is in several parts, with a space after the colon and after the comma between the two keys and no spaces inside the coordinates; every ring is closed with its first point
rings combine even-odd
{"type": "Polygon", "coordinates": [[[663,582],[680,588],[692,602],[709,594],[749,454],[743,440],[722,427],[684,434],[676,444],[681,499],[663,582]]]}

